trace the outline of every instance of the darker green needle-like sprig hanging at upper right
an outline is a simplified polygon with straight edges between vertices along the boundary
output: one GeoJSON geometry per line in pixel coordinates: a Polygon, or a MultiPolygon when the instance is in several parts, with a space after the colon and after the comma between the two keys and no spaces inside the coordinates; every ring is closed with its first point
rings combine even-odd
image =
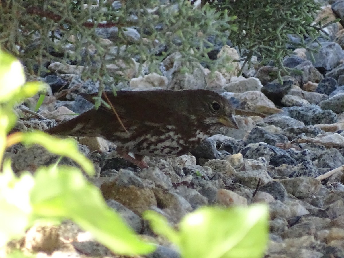
{"type": "Polygon", "coordinates": [[[284,56],[290,55],[295,48],[309,49],[307,45],[314,41],[320,44],[320,35],[326,37],[321,21],[314,23],[316,13],[321,10],[320,4],[315,2],[218,0],[212,1],[211,5],[220,13],[227,11],[237,16],[234,23],[238,31],[231,33],[229,39],[239,51],[245,51],[248,57],[259,56],[261,63],[273,60],[279,71],[286,71],[282,65],[284,56]],[[292,40],[292,34],[298,36],[299,41],[292,40]],[[306,37],[308,42],[304,40],[306,37]]]}

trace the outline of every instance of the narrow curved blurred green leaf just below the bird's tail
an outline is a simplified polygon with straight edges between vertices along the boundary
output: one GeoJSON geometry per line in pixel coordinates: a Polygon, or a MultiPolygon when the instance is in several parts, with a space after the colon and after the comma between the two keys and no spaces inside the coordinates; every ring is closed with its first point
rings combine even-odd
{"type": "Polygon", "coordinates": [[[92,162],[78,151],[77,142],[72,138],[60,139],[41,131],[34,131],[23,133],[21,141],[24,144],[40,144],[52,153],[74,160],[89,175],[94,174],[92,162]]]}

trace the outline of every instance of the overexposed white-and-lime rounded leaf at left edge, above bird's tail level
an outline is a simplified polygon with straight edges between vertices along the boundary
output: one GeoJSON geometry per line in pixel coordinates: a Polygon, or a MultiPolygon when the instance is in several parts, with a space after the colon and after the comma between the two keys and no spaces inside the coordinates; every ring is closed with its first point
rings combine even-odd
{"type": "Polygon", "coordinates": [[[0,103],[15,98],[24,83],[24,69],[19,60],[0,50],[0,103]]]}

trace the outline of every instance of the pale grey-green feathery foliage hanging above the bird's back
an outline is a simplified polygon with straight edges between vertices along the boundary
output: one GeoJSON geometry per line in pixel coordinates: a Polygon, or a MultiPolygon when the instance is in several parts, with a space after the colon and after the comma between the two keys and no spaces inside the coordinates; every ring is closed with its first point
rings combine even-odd
{"type": "Polygon", "coordinates": [[[70,60],[69,64],[87,67],[85,77],[97,80],[116,77],[106,66],[118,60],[129,64],[135,58],[147,71],[157,72],[160,62],[176,51],[185,64],[212,62],[206,54],[212,50],[208,37],[216,36],[225,43],[228,33],[235,29],[229,25],[234,18],[208,5],[193,9],[189,1],[168,5],[157,0],[93,3],[2,0],[0,46],[23,60],[31,73],[41,72],[42,65],[70,60]],[[137,29],[138,40],[126,36],[128,27],[137,29]]]}

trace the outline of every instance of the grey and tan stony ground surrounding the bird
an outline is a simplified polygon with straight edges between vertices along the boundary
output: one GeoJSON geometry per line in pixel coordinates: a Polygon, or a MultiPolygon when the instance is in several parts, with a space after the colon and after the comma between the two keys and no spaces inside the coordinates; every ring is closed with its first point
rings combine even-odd
{"type": "MultiPolygon", "coordinates": [[[[332,8],[336,17],[342,18],[343,7],[334,2],[332,8]]],[[[334,17],[330,6],[319,13],[324,16],[334,17]]],[[[133,30],[128,36],[135,38],[138,32],[133,30]]],[[[80,151],[97,169],[92,181],[108,205],[137,233],[152,237],[140,217],[146,209],[158,211],[175,224],[203,205],[263,202],[270,208],[270,242],[265,257],[344,257],[344,29],[334,23],[326,31],[331,39],[322,40],[315,62],[306,49],[295,49],[294,56],[284,58],[285,66],[298,68],[303,74],[283,76],[283,85],[274,77],[277,68],[272,63],[244,67],[239,77],[239,63],[234,63],[231,72],[211,75],[199,65],[193,74],[183,75],[178,73],[180,54],[174,53],[162,63],[164,76],[140,76],[133,61],[125,71],[130,83],[122,85],[123,89],[207,88],[247,112],[236,115],[240,130],[224,129],[190,155],[146,158],[150,168],[144,170],[116,157],[115,146],[103,139],[79,138],[80,151]]],[[[223,55],[239,58],[230,46],[221,48],[218,57],[223,55]]],[[[66,85],[97,91],[97,84],[80,79],[80,67],[52,63],[49,69],[54,74],[43,80],[52,92],[66,85]]],[[[36,101],[29,99],[26,105],[36,101]]],[[[55,93],[45,99],[38,119],[25,106],[19,107],[21,119],[16,127],[43,130],[70,119],[68,114],[91,107],[77,95],[68,94],[61,100],[55,93]]],[[[58,158],[40,147],[14,146],[6,155],[12,157],[17,171],[34,170],[58,158]]],[[[63,159],[60,163],[72,162],[63,159]]],[[[34,250],[40,250],[41,243],[35,243],[32,232],[47,234],[47,239],[51,232],[58,232],[61,238],[74,240],[56,246],[53,257],[113,256],[69,221],[55,231],[30,229],[23,245],[28,249],[37,245],[34,250]]],[[[179,257],[170,244],[159,244],[148,257],[179,257]]]]}

